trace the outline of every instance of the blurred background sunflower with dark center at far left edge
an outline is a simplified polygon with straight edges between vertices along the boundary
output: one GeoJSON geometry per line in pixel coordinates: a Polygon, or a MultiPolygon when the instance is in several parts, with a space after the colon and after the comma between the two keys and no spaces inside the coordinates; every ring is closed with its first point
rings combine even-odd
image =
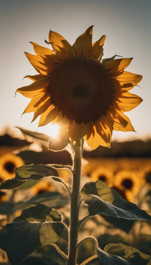
{"type": "Polygon", "coordinates": [[[15,168],[21,167],[25,163],[21,157],[14,154],[5,154],[0,157],[0,181],[8,180],[15,175],[15,168]]]}

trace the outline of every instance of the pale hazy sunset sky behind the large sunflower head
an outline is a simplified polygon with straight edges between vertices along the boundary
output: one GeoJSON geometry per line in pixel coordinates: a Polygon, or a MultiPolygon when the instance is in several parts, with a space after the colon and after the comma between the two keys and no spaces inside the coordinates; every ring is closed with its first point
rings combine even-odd
{"type": "Polygon", "coordinates": [[[19,93],[14,97],[17,88],[32,82],[27,78],[22,80],[24,76],[37,74],[23,52],[34,54],[29,41],[47,47],[44,39],[48,40],[51,29],[73,44],[89,26],[95,25],[92,41],[106,35],[103,58],[115,54],[133,57],[126,70],[143,75],[140,87],[131,90],[143,98],[143,102],[126,113],[137,133],[114,131],[113,140],[151,137],[150,8],[150,0],[1,1],[1,131],[7,125],[49,135],[50,125],[37,128],[39,119],[30,123],[33,113],[21,117],[30,99],[19,93]]]}

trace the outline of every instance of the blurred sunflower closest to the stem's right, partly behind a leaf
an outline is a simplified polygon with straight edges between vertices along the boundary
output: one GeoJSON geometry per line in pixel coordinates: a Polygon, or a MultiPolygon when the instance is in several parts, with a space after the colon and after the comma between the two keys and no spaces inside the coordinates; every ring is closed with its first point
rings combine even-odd
{"type": "Polygon", "coordinates": [[[101,180],[109,186],[111,186],[113,182],[112,172],[104,167],[98,167],[96,170],[92,171],[90,178],[91,181],[101,180]]]}

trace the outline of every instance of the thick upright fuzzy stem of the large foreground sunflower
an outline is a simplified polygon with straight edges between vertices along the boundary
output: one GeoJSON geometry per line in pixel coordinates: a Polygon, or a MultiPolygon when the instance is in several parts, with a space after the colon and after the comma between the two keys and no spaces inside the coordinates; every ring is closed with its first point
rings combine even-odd
{"type": "Polygon", "coordinates": [[[79,190],[81,179],[81,144],[74,145],[74,159],[72,171],[72,192],[70,201],[70,230],[69,230],[69,256],[68,265],[76,265],[77,242],[79,231],[79,190]]]}

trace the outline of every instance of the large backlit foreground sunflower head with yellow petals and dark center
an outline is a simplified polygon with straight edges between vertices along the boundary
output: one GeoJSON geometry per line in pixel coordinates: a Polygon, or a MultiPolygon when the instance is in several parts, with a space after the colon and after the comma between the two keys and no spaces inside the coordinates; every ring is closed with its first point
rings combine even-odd
{"type": "Polygon", "coordinates": [[[25,77],[34,81],[17,89],[30,103],[23,113],[34,112],[39,125],[53,121],[66,139],[85,141],[95,149],[110,147],[112,131],[134,131],[124,114],[140,104],[142,99],[129,90],[142,79],[124,69],[132,58],[107,58],[101,61],[105,35],[92,44],[92,28],[80,35],[73,45],[51,31],[49,42],[53,50],[34,42],[37,55],[25,52],[37,75],[25,77]]]}

